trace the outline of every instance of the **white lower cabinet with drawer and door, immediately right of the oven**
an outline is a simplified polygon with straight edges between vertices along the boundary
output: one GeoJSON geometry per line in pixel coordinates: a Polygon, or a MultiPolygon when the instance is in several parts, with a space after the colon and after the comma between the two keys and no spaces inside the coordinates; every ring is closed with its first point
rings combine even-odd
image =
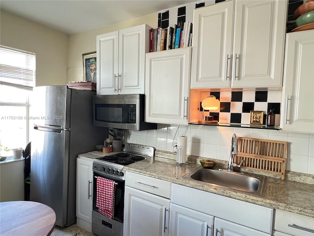
{"type": "Polygon", "coordinates": [[[123,235],[169,236],[170,191],[167,181],[127,172],[123,235]]]}

